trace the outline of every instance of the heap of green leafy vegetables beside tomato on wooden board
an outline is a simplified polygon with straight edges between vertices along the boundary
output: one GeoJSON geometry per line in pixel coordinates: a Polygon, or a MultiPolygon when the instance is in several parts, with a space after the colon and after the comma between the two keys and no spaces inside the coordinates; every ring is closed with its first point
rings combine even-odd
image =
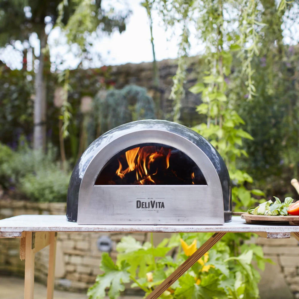
{"type": "MultiPolygon", "coordinates": [[[[288,215],[288,208],[292,204],[292,197],[286,197],[282,203],[278,197],[275,197],[275,202],[268,200],[263,202],[255,208],[249,209],[248,213],[253,215],[288,215]]],[[[298,215],[299,215],[299,202],[298,202],[298,215]]]]}

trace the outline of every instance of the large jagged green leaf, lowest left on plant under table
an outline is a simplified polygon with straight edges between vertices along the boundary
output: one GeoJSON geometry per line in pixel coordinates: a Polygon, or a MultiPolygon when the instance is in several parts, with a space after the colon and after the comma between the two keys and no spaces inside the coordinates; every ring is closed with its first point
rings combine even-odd
{"type": "Polygon", "coordinates": [[[90,299],[102,299],[106,296],[106,288],[109,288],[109,298],[115,299],[120,296],[120,292],[125,290],[123,283],[130,282],[128,272],[129,265],[122,261],[120,267],[116,266],[108,253],[102,254],[100,269],[104,274],[98,275],[95,284],[88,289],[87,295],[90,299]]]}

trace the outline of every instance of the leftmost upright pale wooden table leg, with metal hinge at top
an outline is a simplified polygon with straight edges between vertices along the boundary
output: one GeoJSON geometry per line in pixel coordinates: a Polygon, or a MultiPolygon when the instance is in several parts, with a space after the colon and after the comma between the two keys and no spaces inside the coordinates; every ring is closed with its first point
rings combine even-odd
{"type": "Polygon", "coordinates": [[[33,299],[34,289],[34,238],[32,232],[26,232],[25,239],[25,289],[24,299],[33,299]]]}

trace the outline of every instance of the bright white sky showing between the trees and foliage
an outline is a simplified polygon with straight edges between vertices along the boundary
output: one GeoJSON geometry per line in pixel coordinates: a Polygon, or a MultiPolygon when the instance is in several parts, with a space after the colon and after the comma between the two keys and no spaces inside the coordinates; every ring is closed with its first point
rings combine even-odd
{"type": "MultiPolygon", "coordinates": [[[[132,10],[132,15],[129,18],[129,22],[127,22],[126,30],[121,34],[119,32],[114,32],[110,36],[103,35],[101,38],[96,38],[94,41],[94,47],[91,50],[93,53],[93,64],[86,65],[86,67],[100,67],[102,65],[120,65],[128,62],[140,63],[152,61],[153,57],[152,46],[150,43],[149,22],[146,9],[140,5],[141,0],[127,0],[127,2],[125,2],[126,0],[113,1],[117,3],[118,9],[121,9],[121,5],[127,3],[129,4],[129,8],[132,10]],[[100,53],[100,59],[97,58],[98,53],[100,53]]],[[[112,4],[112,1],[103,0],[104,6],[108,4],[112,4]]],[[[113,5],[115,6],[114,3],[113,5]]],[[[48,28],[48,30],[50,29],[51,28],[48,28]]],[[[293,32],[286,32],[285,30],[284,42],[286,44],[294,44],[298,42],[297,29],[298,26],[294,26],[293,32]],[[294,42],[292,42],[290,36],[294,39],[294,42]]],[[[175,28],[172,32],[165,32],[161,18],[154,13],[153,35],[157,60],[177,57],[180,34],[181,28],[179,27],[175,28]],[[175,33],[172,34],[173,32],[175,33]]],[[[190,39],[190,56],[204,51],[204,46],[200,43],[200,41],[196,40],[195,35],[196,34],[191,34],[191,36],[194,37],[190,39]]],[[[34,34],[30,38],[30,45],[34,47],[34,52],[36,56],[38,56],[39,40],[34,34]]],[[[76,59],[73,54],[76,53],[76,46],[69,47],[66,45],[65,39],[60,34],[59,28],[51,30],[48,37],[48,45],[50,48],[51,62],[53,62],[52,70],[55,69],[55,65],[59,64],[59,62],[62,62],[62,65],[59,67],[60,69],[77,67],[79,59],[76,59]]],[[[20,42],[16,42],[15,47],[22,49],[22,44],[20,42]]],[[[31,68],[30,58],[31,55],[29,53],[29,69],[31,68]]],[[[0,49],[0,59],[5,61],[11,68],[20,69],[22,67],[22,56],[18,51],[13,51],[12,47],[0,49]]]]}

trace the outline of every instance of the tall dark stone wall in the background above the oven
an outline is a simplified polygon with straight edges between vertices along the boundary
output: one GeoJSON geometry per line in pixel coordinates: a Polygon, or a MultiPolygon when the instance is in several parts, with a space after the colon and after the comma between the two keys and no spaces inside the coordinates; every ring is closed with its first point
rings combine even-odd
{"type": "MultiPolygon", "coordinates": [[[[196,106],[201,103],[200,95],[189,91],[198,78],[198,68],[194,65],[199,61],[198,57],[189,58],[187,78],[184,83],[185,96],[181,101],[180,121],[188,127],[192,127],[202,120],[196,112],[196,106]]],[[[126,85],[134,84],[147,88],[148,94],[160,99],[160,109],[164,112],[164,119],[172,120],[173,100],[170,99],[171,87],[173,86],[173,76],[177,71],[177,60],[166,59],[157,62],[159,68],[159,87],[153,86],[153,69],[151,62],[139,64],[127,63],[124,65],[112,66],[111,80],[115,82],[115,88],[121,89],[126,85]]]]}

